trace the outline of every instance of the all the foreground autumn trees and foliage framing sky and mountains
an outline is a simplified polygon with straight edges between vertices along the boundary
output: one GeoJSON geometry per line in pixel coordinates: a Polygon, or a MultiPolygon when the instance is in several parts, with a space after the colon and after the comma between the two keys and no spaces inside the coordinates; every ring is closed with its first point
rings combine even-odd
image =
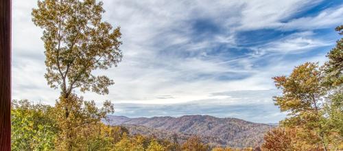
{"type": "MultiPolygon", "coordinates": [[[[45,78],[60,97],[55,106],[12,102],[12,150],[343,150],[343,38],[324,65],[305,62],[290,75],[272,78],[282,91],[274,104],[287,117],[265,134],[261,148],[216,147],[196,136],[179,142],[132,135],[104,124],[114,112],[110,101],[100,108],[76,95],[75,90],[108,94],[113,80],[93,71],[116,67],[123,57],[120,28],[102,21],[103,13],[95,0],[43,0],[32,10],[32,21],[43,29],[45,78]]],[[[343,34],[342,25],[336,30],[343,34]]]]}

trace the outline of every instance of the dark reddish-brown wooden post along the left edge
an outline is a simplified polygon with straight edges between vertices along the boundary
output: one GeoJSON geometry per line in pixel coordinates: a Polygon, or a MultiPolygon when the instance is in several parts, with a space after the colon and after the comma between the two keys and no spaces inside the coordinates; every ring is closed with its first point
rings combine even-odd
{"type": "Polygon", "coordinates": [[[11,150],[11,0],[0,0],[0,150],[11,150]]]}

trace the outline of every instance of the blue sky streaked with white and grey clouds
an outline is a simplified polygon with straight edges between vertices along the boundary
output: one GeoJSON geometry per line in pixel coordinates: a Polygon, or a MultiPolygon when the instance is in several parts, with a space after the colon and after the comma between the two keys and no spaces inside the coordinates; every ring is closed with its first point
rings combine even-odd
{"type": "MultiPolygon", "coordinates": [[[[12,2],[12,98],[54,105],[44,78],[36,0],[12,2]]],[[[272,77],[325,62],[343,23],[343,1],[104,0],[103,21],[120,26],[123,60],[95,74],[115,81],[108,95],[75,93],[114,115],[213,115],[259,123],[285,118],[272,77]]]]}

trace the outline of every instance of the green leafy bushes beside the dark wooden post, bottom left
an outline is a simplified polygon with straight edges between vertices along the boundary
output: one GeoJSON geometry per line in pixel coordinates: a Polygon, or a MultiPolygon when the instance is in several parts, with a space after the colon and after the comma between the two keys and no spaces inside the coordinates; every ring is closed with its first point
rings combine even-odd
{"type": "Polygon", "coordinates": [[[12,101],[12,150],[54,150],[58,128],[52,112],[51,106],[12,101]]]}

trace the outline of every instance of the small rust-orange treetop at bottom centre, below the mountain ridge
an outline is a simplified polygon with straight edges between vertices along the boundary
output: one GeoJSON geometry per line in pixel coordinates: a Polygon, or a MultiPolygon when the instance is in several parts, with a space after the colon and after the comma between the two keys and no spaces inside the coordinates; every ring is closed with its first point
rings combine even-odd
{"type": "Polygon", "coordinates": [[[200,137],[189,137],[185,143],[181,146],[185,151],[206,151],[209,150],[209,146],[201,142],[200,137]]]}

